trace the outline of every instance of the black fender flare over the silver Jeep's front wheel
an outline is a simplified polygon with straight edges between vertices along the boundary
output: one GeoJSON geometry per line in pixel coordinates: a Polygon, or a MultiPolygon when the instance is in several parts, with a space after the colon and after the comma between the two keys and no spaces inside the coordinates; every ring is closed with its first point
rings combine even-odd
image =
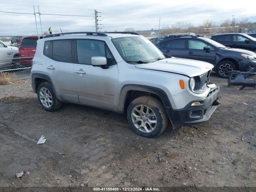
{"type": "Polygon", "coordinates": [[[164,90],[157,88],[157,87],[146,86],[146,85],[126,84],[122,87],[120,94],[119,94],[119,102],[118,102],[117,110],[120,113],[125,113],[124,107],[126,104],[126,98],[128,96],[129,91],[142,91],[142,92],[156,94],[162,100],[162,103],[166,109],[172,108],[170,100],[169,100],[166,92],[164,92],[164,90]]]}

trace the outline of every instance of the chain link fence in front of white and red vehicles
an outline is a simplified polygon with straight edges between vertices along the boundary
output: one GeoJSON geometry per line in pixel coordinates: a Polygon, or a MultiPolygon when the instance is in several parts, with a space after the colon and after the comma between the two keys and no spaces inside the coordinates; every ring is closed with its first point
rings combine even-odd
{"type": "Polygon", "coordinates": [[[9,76],[12,80],[30,78],[37,40],[37,35],[1,36],[0,76],[9,76]]]}

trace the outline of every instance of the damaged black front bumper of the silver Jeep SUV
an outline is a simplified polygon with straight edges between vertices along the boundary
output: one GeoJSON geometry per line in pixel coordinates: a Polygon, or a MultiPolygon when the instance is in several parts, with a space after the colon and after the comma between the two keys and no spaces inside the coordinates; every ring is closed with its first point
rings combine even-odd
{"type": "Polygon", "coordinates": [[[196,102],[192,101],[179,110],[166,107],[172,125],[174,127],[183,127],[207,121],[220,104],[218,101],[219,92],[219,87],[212,89],[205,99],[197,100],[201,103],[198,106],[191,106],[193,102],[196,102]]]}

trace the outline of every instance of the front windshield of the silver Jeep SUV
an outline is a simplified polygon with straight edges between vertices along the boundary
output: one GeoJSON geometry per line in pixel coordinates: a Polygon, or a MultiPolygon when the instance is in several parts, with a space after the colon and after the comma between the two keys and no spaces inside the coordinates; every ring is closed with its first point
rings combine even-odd
{"type": "Polygon", "coordinates": [[[112,42],[126,62],[155,62],[165,58],[164,54],[145,37],[114,38],[112,42]]]}

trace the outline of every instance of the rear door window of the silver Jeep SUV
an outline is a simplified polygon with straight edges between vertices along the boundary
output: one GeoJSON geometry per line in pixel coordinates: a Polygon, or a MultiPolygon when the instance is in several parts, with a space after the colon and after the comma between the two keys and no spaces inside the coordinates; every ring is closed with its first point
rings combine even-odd
{"type": "Polygon", "coordinates": [[[72,40],[52,41],[52,58],[60,62],[72,62],[72,40]]]}

